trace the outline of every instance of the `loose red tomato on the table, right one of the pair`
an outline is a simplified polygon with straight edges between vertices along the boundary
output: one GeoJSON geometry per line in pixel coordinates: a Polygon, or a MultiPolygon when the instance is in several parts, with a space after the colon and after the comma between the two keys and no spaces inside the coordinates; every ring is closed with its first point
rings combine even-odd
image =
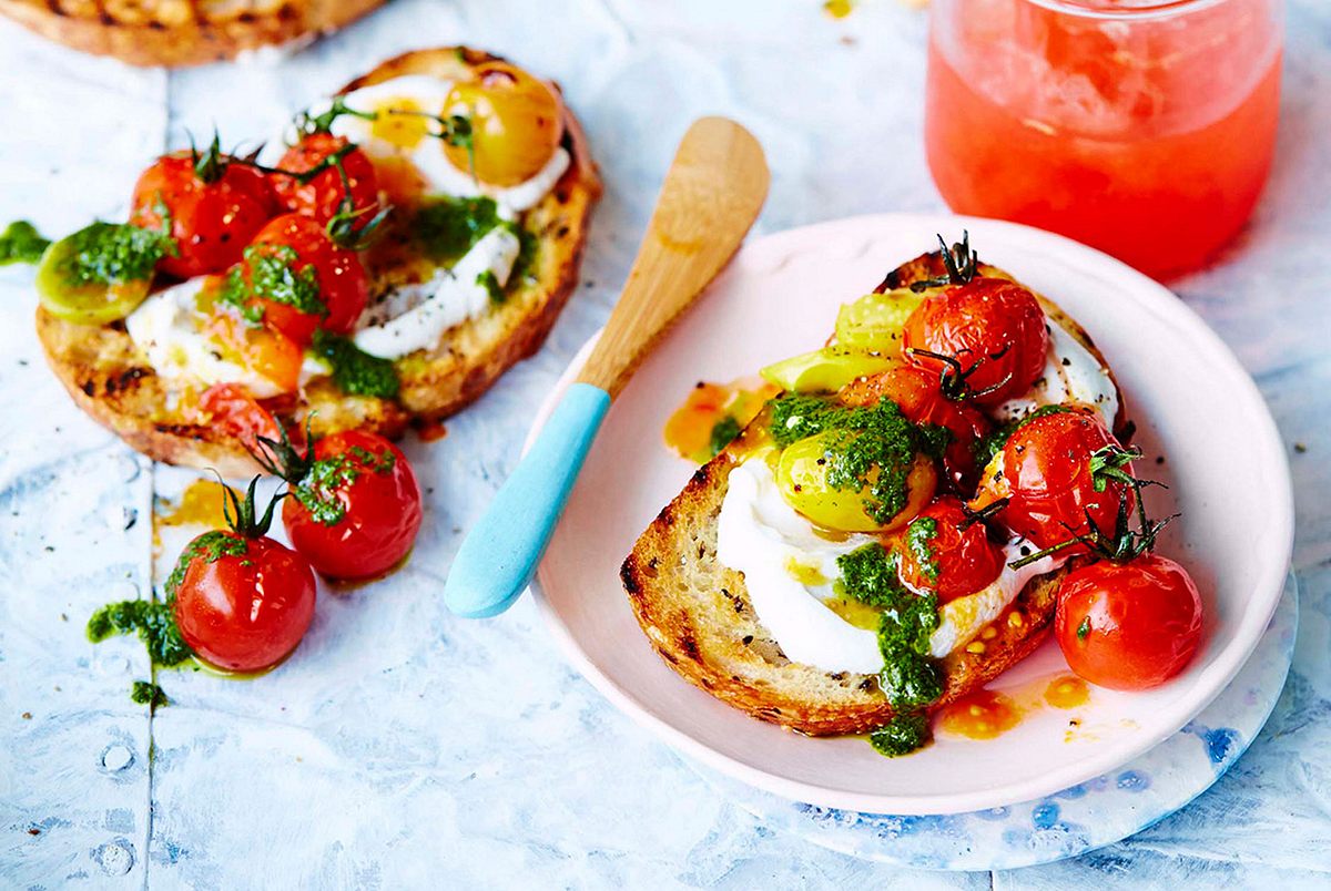
{"type": "Polygon", "coordinates": [[[318,440],[313,457],[282,505],[291,545],[333,578],[391,569],[421,529],[421,488],[406,455],[382,436],[346,431],[318,440]]]}

